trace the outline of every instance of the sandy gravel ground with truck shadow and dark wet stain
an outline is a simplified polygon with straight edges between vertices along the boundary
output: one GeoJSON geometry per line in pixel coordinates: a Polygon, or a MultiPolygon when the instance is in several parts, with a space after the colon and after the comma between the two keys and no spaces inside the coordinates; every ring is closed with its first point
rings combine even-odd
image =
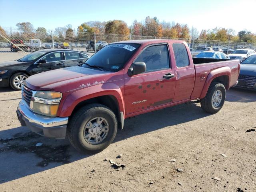
{"type": "Polygon", "coordinates": [[[0,89],[1,192],[256,190],[256,131],[246,132],[256,127],[255,92],[228,90],[213,115],[181,104],[126,119],[106,150],[87,155],[21,127],[20,97],[0,89]]]}

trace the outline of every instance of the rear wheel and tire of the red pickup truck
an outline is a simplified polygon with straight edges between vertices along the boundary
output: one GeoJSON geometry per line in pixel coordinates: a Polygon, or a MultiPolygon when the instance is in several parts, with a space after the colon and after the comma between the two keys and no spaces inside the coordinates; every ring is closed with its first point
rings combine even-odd
{"type": "Polygon", "coordinates": [[[201,107],[205,112],[217,113],[223,106],[226,98],[226,88],[223,84],[212,82],[205,98],[201,99],[201,107]]]}

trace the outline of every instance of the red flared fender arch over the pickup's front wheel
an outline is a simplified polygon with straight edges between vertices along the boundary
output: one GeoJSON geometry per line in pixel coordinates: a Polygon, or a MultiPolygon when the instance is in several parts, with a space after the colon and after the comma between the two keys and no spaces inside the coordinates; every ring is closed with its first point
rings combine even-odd
{"type": "Polygon", "coordinates": [[[60,105],[60,117],[66,117],[70,116],[72,114],[72,111],[74,108],[80,103],[85,100],[96,98],[99,96],[104,95],[112,95],[116,98],[118,101],[120,112],[124,112],[124,98],[122,95],[121,88],[114,83],[104,83],[104,84],[98,84],[95,86],[90,86],[87,88],[79,89],[77,91],[74,91],[66,96],[63,103],[60,105]]]}

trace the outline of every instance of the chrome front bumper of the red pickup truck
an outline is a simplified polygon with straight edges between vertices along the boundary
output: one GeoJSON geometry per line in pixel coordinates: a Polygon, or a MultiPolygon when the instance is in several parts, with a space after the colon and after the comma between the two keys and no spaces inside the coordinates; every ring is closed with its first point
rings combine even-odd
{"type": "Polygon", "coordinates": [[[36,114],[28,109],[23,100],[20,101],[16,112],[20,124],[27,126],[32,132],[56,139],[66,137],[68,117],[48,117],[36,114]]]}

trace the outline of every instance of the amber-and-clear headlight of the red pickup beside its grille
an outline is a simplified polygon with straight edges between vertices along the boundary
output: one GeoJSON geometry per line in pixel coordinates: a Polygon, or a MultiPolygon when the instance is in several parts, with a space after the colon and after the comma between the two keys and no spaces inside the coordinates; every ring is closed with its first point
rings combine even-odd
{"type": "Polygon", "coordinates": [[[57,115],[62,94],[59,92],[36,91],[30,102],[30,108],[38,114],[54,117],[57,115]]]}

